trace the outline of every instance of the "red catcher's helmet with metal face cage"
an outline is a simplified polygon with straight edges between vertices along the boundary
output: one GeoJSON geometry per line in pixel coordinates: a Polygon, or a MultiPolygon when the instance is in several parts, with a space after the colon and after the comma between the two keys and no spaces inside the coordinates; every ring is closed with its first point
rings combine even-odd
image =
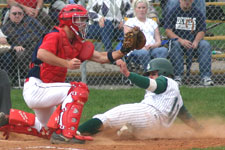
{"type": "Polygon", "coordinates": [[[85,38],[88,11],[82,5],[66,5],[59,12],[58,19],[60,27],[67,25],[76,36],[80,36],[82,39],[85,38]]]}

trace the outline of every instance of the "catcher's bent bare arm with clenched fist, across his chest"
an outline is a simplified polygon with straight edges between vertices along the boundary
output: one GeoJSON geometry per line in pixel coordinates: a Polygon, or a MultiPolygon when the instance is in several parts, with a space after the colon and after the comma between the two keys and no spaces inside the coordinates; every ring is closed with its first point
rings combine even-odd
{"type": "Polygon", "coordinates": [[[77,58],[66,60],[45,49],[38,50],[37,58],[47,64],[68,69],[79,69],[81,65],[81,61],[77,58]]]}

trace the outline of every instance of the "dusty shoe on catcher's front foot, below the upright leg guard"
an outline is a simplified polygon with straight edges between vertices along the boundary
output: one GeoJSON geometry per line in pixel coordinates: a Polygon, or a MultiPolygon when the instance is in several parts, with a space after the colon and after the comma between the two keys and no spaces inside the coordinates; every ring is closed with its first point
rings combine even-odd
{"type": "Polygon", "coordinates": [[[56,134],[55,132],[53,132],[50,141],[52,144],[84,144],[85,143],[85,140],[79,140],[79,139],[76,139],[75,137],[70,139],[63,136],[62,134],[56,134]]]}

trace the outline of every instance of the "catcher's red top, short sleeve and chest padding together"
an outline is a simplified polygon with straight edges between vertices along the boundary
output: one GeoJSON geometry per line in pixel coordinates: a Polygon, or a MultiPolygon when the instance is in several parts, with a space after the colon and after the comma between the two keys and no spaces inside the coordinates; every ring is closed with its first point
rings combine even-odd
{"type": "MultiPolygon", "coordinates": [[[[67,38],[66,32],[62,28],[55,27],[55,29],[59,32],[50,32],[45,35],[39,49],[45,49],[63,59],[79,59],[83,43],[75,40],[71,44],[67,38]]],[[[66,73],[67,68],[50,65],[45,62],[40,65],[40,79],[45,83],[64,82],[66,73]]]]}

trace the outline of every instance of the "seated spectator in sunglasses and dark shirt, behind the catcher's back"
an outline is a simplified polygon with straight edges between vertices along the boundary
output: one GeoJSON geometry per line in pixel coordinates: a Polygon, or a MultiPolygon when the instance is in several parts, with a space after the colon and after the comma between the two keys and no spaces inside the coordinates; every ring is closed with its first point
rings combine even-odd
{"type": "MultiPolygon", "coordinates": [[[[47,30],[35,18],[24,14],[20,5],[12,5],[9,10],[9,20],[2,26],[2,32],[7,36],[7,41],[12,47],[10,56],[13,68],[12,76],[17,74],[19,68],[21,77],[26,76],[32,50],[42,34],[47,30]]],[[[9,60],[5,60],[8,63],[9,60]]]]}

